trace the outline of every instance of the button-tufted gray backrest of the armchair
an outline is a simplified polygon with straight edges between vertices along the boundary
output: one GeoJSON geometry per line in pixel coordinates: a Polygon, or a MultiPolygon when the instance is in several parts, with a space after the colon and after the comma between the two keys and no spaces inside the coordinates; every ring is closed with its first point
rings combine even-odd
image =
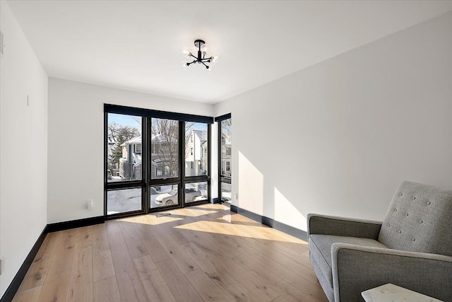
{"type": "Polygon", "coordinates": [[[452,191],[403,182],[381,226],[388,248],[452,256],[452,191]]]}

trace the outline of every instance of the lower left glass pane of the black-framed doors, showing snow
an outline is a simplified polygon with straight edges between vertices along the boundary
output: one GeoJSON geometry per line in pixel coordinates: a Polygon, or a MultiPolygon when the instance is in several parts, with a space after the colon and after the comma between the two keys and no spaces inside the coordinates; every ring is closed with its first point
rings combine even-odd
{"type": "Polygon", "coordinates": [[[107,214],[141,210],[141,188],[107,192],[107,214]]]}

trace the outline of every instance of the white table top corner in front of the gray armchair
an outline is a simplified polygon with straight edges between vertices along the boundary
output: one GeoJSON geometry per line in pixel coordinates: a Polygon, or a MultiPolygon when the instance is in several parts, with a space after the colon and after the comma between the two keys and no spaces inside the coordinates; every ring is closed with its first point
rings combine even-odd
{"type": "Polygon", "coordinates": [[[361,293],[366,302],[444,302],[388,283],[361,293]]]}

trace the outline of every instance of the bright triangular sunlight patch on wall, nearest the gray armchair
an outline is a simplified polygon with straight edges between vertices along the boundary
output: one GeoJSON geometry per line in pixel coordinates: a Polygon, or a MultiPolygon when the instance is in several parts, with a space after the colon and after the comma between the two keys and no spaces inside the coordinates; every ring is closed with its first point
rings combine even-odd
{"type": "Polygon", "coordinates": [[[307,220],[292,202],[275,188],[275,221],[283,222],[288,226],[307,231],[307,220]]]}

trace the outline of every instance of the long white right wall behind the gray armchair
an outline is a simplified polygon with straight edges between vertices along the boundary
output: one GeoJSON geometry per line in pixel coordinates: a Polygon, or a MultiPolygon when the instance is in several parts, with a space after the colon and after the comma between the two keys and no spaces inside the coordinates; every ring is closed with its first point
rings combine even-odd
{"type": "Polygon", "coordinates": [[[383,219],[403,180],[452,188],[451,33],[446,13],[216,104],[233,204],[305,231],[310,212],[383,219]]]}

